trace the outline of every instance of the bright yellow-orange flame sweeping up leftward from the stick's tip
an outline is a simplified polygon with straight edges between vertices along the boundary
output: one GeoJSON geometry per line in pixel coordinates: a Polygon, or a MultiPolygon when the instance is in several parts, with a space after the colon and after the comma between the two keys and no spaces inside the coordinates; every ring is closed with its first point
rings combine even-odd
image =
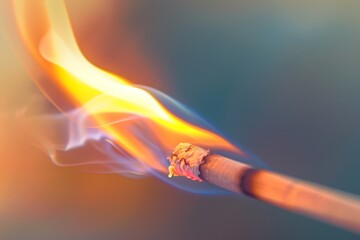
{"type": "Polygon", "coordinates": [[[167,172],[147,143],[131,131],[130,126],[137,121],[159,140],[157,147],[162,150],[170,151],[179,142],[191,142],[240,152],[216,133],[175,116],[144,89],[90,63],[77,45],[62,1],[40,0],[35,4],[15,0],[14,10],[27,50],[46,72],[46,81],[35,79],[43,93],[58,107],[65,100],[81,107],[96,127],[146,166],[167,172]],[[136,120],[114,124],[116,119],[129,115],[136,116],[136,120]]]}

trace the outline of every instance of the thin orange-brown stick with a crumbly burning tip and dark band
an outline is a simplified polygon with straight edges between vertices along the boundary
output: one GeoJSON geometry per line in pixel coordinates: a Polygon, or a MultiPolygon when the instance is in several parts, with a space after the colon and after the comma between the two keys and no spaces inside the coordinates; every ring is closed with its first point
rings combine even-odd
{"type": "Polygon", "coordinates": [[[206,181],[234,193],[360,233],[360,198],[180,143],[171,156],[169,177],[206,181]]]}

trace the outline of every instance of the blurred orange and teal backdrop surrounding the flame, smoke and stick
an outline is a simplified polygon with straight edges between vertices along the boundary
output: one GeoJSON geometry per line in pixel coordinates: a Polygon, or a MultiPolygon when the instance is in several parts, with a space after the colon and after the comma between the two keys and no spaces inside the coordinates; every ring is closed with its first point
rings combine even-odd
{"type": "MultiPolygon", "coordinates": [[[[96,65],[180,100],[279,172],[360,194],[358,1],[66,3],[96,65]]],[[[53,165],[16,124],[41,95],[1,24],[1,239],[358,239],[254,200],[53,165]]]]}

